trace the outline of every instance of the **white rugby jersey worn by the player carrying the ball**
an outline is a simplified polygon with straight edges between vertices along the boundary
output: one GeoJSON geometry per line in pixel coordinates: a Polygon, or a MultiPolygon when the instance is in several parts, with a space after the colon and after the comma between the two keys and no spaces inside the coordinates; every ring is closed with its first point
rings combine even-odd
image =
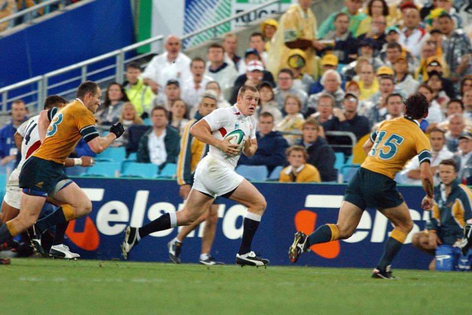
{"type": "MultiPolygon", "coordinates": [[[[210,126],[213,137],[218,140],[222,140],[226,134],[236,129],[244,131],[244,138],[246,140],[256,138],[256,119],[254,116],[243,116],[237,105],[215,109],[203,119],[210,126]]],[[[209,147],[208,155],[225,161],[233,168],[236,167],[240,154],[230,158],[221,152],[220,149],[211,145],[209,147]]]]}

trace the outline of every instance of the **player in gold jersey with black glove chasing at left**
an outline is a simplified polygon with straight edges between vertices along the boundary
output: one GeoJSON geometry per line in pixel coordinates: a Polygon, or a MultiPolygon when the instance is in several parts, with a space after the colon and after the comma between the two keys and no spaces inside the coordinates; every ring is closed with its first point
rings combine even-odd
{"type": "Polygon", "coordinates": [[[105,150],[124,132],[121,124],[100,137],[93,114],[100,105],[98,85],[86,81],[79,86],[77,98],[58,110],[44,110],[38,118],[41,145],[23,165],[19,187],[23,189],[18,216],[0,226],[0,244],[33,225],[50,196],[62,204],[47,217],[49,226],[80,218],[90,213],[92,204],[85,192],[64,173],[66,158],[81,138],[95,153],[105,150]],[[49,123],[51,122],[51,123],[49,123]],[[47,130],[46,130],[47,129],[47,130]]]}

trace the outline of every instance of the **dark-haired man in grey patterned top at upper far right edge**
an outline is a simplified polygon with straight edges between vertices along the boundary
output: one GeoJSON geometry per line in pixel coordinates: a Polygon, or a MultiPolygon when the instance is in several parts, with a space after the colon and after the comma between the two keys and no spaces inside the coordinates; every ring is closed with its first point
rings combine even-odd
{"type": "Polygon", "coordinates": [[[463,30],[454,30],[454,23],[449,14],[439,17],[439,28],[445,36],[442,41],[444,60],[451,70],[451,80],[456,84],[456,90],[459,90],[460,77],[472,74],[471,40],[463,30]]]}

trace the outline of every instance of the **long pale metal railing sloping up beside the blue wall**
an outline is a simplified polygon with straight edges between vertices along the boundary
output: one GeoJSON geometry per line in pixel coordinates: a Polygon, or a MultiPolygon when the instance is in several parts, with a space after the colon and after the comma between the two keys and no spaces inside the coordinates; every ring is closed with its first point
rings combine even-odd
{"type": "MultiPolygon", "coordinates": [[[[52,1],[60,1],[60,0],[50,0],[43,2],[52,3],[52,1]]],[[[216,37],[217,27],[231,22],[233,20],[239,19],[248,15],[252,12],[260,10],[266,6],[278,3],[278,10],[280,12],[281,9],[281,1],[282,0],[269,0],[263,4],[254,6],[250,10],[235,14],[231,17],[218,21],[214,24],[211,24],[201,30],[194,31],[188,33],[180,39],[183,41],[188,39],[192,36],[201,34],[203,32],[213,31],[214,36],[216,37]]],[[[30,9],[32,9],[31,7],[30,9]]],[[[263,18],[261,18],[263,19],[263,18]]],[[[247,19],[249,20],[249,19],[247,19]]],[[[246,21],[246,24],[250,23],[250,21],[246,21]]],[[[252,23],[252,22],[251,22],[252,23]]],[[[126,63],[145,58],[153,53],[142,53],[138,54],[135,50],[137,48],[152,44],[152,43],[159,43],[157,47],[157,51],[155,53],[162,53],[164,50],[164,37],[162,35],[154,36],[147,40],[143,40],[141,42],[126,46],[124,48],[112,51],[110,53],[91,58],[81,63],[76,63],[52,72],[48,72],[44,75],[36,76],[34,78],[30,78],[25,81],[21,81],[4,88],[0,89],[0,116],[6,115],[8,113],[7,104],[11,103],[13,100],[18,98],[25,98],[29,97],[30,100],[27,100],[27,107],[29,108],[31,114],[38,110],[38,104],[41,104],[47,95],[56,94],[61,95],[65,98],[71,98],[75,93],[77,87],[86,80],[92,80],[97,82],[98,84],[111,81],[116,81],[118,83],[122,83],[124,79],[124,66],[126,63]],[[128,54],[128,56],[127,56],[128,54]],[[98,64],[97,64],[98,63],[98,64]],[[99,63],[107,63],[106,65],[99,64],[99,63]],[[93,66],[98,66],[97,69],[93,68],[93,66]],[[89,69],[92,68],[92,69],[89,69]],[[66,75],[67,74],[67,75],[66,75]],[[66,79],[61,79],[60,76],[66,77],[66,79]],[[74,83],[75,84],[72,84],[74,83]],[[30,87],[27,92],[27,87],[30,87]],[[15,91],[20,90],[22,92],[14,93],[15,91]],[[68,97],[69,96],[69,97],[68,97]]]]}

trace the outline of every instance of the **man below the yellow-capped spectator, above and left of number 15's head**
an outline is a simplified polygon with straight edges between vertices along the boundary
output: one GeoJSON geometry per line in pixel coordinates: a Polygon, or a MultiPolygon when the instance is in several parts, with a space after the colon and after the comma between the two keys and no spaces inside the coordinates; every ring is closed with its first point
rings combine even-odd
{"type": "Polygon", "coordinates": [[[379,92],[369,98],[369,109],[365,116],[369,119],[371,125],[375,125],[383,120],[387,115],[387,97],[395,90],[393,78],[389,75],[383,75],[379,79],[379,92]]]}

